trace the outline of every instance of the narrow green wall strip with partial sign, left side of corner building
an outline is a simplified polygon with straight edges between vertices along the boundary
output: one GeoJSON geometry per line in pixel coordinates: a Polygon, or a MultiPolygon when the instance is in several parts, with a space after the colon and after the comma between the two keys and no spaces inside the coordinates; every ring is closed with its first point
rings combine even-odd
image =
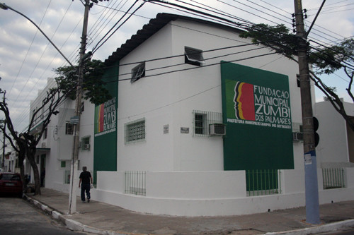
{"type": "Polygon", "coordinates": [[[117,171],[118,63],[103,76],[112,100],[95,107],[93,179],[97,171],[117,171]]]}

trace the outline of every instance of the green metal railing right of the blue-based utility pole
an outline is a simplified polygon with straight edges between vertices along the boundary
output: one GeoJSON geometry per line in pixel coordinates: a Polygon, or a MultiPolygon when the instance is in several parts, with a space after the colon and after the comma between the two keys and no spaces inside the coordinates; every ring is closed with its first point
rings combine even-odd
{"type": "Polygon", "coordinates": [[[343,168],[323,168],[324,189],[345,188],[343,168]]]}

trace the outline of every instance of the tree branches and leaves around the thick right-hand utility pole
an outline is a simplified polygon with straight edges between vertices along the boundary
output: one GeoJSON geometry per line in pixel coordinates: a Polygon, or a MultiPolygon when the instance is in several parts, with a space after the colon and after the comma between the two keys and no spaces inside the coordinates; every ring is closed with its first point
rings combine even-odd
{"type": "MultiPolygon", "coordinates": [[[[298,52],[298,42],[299,40],[304,40],[291,34],[285,25],[270,26],[265,24],[251,26],[247,31],[241,32],[240,37],[251,37],[253,42],[264,44],[270,49],[275,50],[275,52],[296,62],[295,55],[297,55],[298,52]]],[[[313,66],[313,70],[310,71],[310,78],[314,81],[314,85],[316,85],[321,92],[324,92],[326,96],[325,100],[331,102],[334,109],[343,116],[348,126],[354,131],[353,116],[346,113],[343,100],[336,94],[336,88],[327,86],[323,80],[319,78],[321,74],[330,75],[339,69],[343,69],[350,79],[346,91],[354,102],[354,96],[351,91],[354,76],[354,40],[343,40],[331,47],[320,44],[319,47],[308,48],[308,61],[309,64],[313,66]]]]}

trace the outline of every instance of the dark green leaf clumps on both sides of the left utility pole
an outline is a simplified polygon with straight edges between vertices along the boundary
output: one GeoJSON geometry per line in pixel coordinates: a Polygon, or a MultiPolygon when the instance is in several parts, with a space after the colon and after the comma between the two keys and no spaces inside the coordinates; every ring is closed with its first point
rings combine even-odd
{"type": "MultiPolygon", "coordinates": [[[[78,67],[64,66],[55,69],[58,77],[55,78],[62,92],[72,100],[76,98],[76,86],[78,80],[78,67]]],[[[82,90],[84,99],[93,104],[102,104],[112,97],[105,89],[105,82],[102,80],[104,64],[100,60],[86,61],[84,65],[84,78],[82,90]]]]}

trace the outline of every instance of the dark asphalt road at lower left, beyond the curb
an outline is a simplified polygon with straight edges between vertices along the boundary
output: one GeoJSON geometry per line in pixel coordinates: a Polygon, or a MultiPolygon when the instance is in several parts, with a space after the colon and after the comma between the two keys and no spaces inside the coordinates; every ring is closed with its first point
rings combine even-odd
{"type": "Polygon", "coordinates": [[[0,234],[89,235],[70,231],[23,199],[4,196],[0,197],[0,234]]]}

